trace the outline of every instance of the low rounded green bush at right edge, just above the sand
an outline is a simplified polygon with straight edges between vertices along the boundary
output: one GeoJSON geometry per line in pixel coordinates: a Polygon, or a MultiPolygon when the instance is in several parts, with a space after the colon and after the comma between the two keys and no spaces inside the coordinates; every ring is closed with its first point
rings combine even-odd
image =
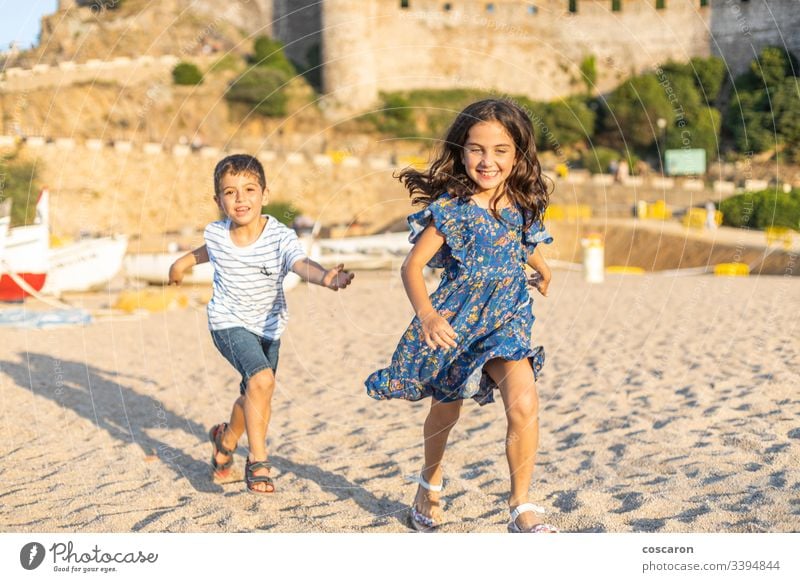
{"type": "Polygon", "coordinates": [[[722,223],[739,228],[763,230],[783,226],[800,230],[800,190],[746,192],[723,200],[719,209],[722,223]]]}

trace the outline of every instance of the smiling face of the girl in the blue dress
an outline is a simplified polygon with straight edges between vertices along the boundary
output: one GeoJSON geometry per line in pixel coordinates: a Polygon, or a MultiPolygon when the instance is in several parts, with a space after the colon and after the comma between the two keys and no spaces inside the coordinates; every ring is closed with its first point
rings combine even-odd
{"type": "Polygon", "coordinates": [[[461,161],[478,194],[494,196],[511,174],[517,150],[514,140],[498,121],[480,121],[467,134],[461,161]]]}

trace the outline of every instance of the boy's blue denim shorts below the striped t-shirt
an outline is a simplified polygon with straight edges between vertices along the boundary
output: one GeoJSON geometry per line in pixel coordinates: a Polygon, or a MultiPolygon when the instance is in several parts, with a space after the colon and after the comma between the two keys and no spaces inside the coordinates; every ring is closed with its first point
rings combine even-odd
{"type": "Polygon", "coordinates": [[[242,375],[239,393],[247,390],[247,382],[262,370],[278,368],[281,340],[257,336],[243,327],[211,330],[214,346],[242,375]]]}

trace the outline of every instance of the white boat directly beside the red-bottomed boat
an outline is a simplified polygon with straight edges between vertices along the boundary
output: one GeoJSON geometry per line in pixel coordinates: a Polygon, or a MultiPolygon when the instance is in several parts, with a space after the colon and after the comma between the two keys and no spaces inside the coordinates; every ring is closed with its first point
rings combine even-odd
{"type": "Polygon", "coordinates": [[[108,283],[122,268],[128,237],[88,238],[50,248],[50,269],[42,293],[90,291],[108,283]]]}

